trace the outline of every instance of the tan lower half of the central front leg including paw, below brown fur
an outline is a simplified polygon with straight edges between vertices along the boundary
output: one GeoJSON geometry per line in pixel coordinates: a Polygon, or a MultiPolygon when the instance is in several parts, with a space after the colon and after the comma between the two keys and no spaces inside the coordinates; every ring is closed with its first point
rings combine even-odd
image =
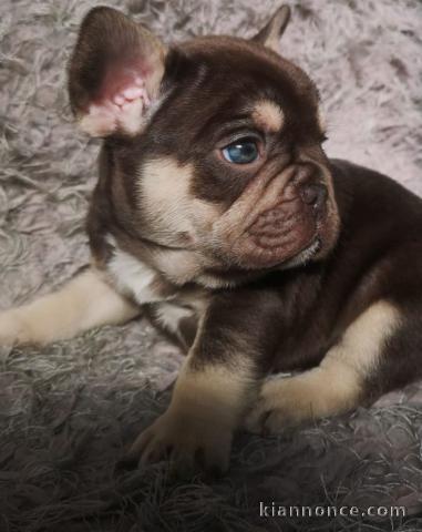
{"type": "Polygon", "coordinates": [[[234,431],[255,390],[244,357],[236,368],[236,372],[224,366],[193,370],[188,357],[167,411],[142,432],[130,453],[141,453],[147,462],[171,447],[178,467],[191,469],[200,450],[205,467],[226,470],[234,431]]]}

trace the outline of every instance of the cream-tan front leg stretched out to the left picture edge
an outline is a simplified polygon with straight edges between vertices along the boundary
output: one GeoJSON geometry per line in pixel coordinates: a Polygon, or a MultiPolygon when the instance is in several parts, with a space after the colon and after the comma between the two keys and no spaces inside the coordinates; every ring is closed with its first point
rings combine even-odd
{"type": "Polygon", "coordinates": [[[95,268],[58,291],[0,313],[0,345],[48,344],[134,318],[140,308],[117,294],[95,268]]]}

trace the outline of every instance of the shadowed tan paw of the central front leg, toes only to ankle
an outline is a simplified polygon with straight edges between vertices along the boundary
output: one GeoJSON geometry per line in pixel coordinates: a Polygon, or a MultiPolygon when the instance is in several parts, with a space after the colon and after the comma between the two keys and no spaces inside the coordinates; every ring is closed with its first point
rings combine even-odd
{"type": "Polygon", "coordinates": [[[141,463],[164,459],[182,475],[198,467],[216,474],[228,469],[233,430],[183,412],[167,410],[132,446],[128,458],[141,463]]]}

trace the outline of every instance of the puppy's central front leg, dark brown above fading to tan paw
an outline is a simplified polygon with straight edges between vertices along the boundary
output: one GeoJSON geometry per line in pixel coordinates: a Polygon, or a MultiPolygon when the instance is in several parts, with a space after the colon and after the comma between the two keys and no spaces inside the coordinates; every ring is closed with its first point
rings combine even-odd
{"type": "Polygon", "coordinates": [[[227,469],[234,432],[275,345],[268,331],[275,305],[265,299],[264,294],[243,293],[212,301],[167,411],[138,437],[128,458],[141,456],[145,463],[169,457],[183,472],[196,462],[208,470],[227,469]]]}

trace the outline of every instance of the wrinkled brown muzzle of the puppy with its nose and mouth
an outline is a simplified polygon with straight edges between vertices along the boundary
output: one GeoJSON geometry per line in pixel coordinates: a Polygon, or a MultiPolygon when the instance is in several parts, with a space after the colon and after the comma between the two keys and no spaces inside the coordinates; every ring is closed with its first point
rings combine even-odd
{"type": "MultiPolygon", "coordinates": [[[[270,268],[308,248],[315,257],[338,233],[331,176],[316,164],[257,175],[213,226],[213,247],[226,265],[270,268]]],[[[310,257],[308,257],[310,258],[310,257]]]]}

